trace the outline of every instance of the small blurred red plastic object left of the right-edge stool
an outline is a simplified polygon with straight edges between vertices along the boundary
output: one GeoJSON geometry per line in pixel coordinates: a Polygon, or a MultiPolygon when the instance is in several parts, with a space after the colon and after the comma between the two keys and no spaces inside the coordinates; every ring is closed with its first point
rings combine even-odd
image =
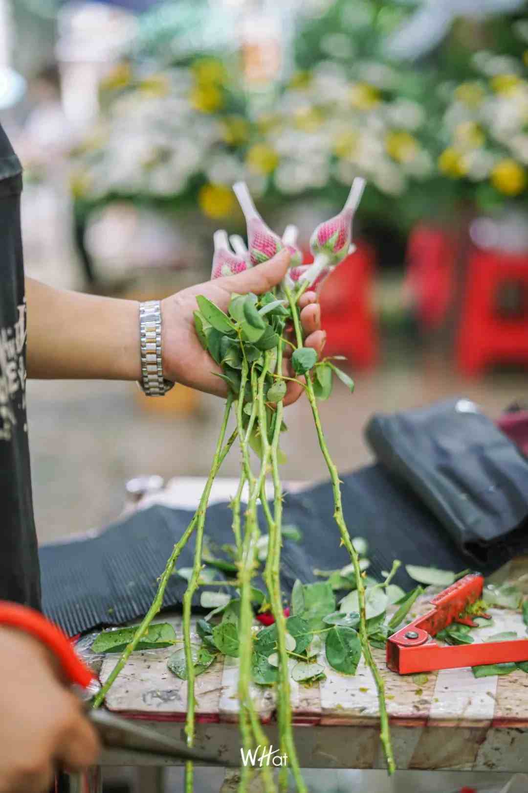
{"type": "Polygon", "coordinates": [[[407,245],[405,285],[412,294],[420,324],[434,330],[443,324],[453,296],[454,245],[441,228],[420,223],[407,245]]]}

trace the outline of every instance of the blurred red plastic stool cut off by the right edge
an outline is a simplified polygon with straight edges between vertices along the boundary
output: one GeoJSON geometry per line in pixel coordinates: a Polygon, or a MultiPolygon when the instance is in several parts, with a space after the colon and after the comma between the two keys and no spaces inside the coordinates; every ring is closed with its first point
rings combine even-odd
{"type": "Polygon", "coordinates": [[[528,256],[473,251],[458,332],[457,362],[464,374],[478,374],[493,362],[528,363],[528,256]],[[522,295],[518,316],[501,316],[501,289],[515,285],[522,295]]]}

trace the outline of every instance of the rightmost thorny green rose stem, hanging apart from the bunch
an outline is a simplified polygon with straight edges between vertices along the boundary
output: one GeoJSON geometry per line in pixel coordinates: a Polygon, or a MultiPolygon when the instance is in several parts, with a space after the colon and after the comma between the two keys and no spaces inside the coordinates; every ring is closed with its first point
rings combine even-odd
{"type": "MultiPolygon", "coordinates": [[[[295,300],[291,294],[290,289],[286,289],[286,295],[291,307],[291,315],[294,322],[297,344],[298,347],[302,347],[302,329],[298,314],[298,308],[295,305],[295,300]]],[[[325,458],[326,465],[329,469],[330,479],[332,481],[332,492],[334,497],[334,519],[340,531],[341,542],[343,542],[343,545],[348,550],[348,554],[350,555],[352,564],[354,565],[355,579],[357,582],[358,601],[359,601],[359,638],[361,640],[361,646],[363,647],[363,655],[365,657],[365,661],[367,662],[367,666],[370,668],[370,672],[372,672],[372,676],[374,677],[376,688],[378,689],[379,718],[380,718],[380,728],[381,728],[380,740],[382,741],[383,749],[385,751],[389,774],[393,774],[393,772],[396,770],[396,764],[394,762],[393,746],[390,739],[389,716],[387,714],[386,699],[385,699],[385,684],[382,680],[382,676],[379,673],[378,667],[376,666],[374,657],[372,656],[372,650],[370,649],[370,644],[368,641],[367,617],[366,617],[366,608],[365,608],[365,587],[363,585],[363,578],[361,576],[361,570],[359,568],[359,556],[355,550],[355,547],[352,545],[350,534],[348,533],[347,524],[344,521],[339,473],[336,469],[336,465],[334,465],[334,463],[332,462],[332,458],[330,457],[329,448],[327,446],[325,439],[325,433],[321,426],[321,418],[319,416],[319,410],[317,408],[317,400],[315,394],[313,393],[313,383],[310,377],[310,373],[306,377],[306,393],[308,395],[308,400],[310,402],[310,408],[312,408],[313,421],[315,423],[315,427],[317,430],[317,439],[319,440],[319,446],[321,446],[321,452],[323,454],[323,457],[325,458]]]]}

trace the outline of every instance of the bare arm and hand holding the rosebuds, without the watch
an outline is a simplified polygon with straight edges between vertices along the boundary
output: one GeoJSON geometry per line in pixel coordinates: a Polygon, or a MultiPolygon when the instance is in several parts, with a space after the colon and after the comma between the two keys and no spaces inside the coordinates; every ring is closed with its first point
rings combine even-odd
{"type": "MultiPolygon", "coordinates": [[[[203,351],[194,329],[196,295],[204,294],[220,308],[230,294],[263,293],[286,273],[288,255],[228,278],[199,284],[161,302],[164,375],[192,388],[226,395],[215,377],[218,366],[203,351]]],[[[26,281],[28,304],[28,377],[139,380],[139,308],[135,301],[96,297],[54,289],[32,278],[26,281]]],[[[321,351],[324,333],[313,293],[301,299],[306,346],[321,351]]],[[[287,403],[301,386],[288,384],[287,403]]]]}

